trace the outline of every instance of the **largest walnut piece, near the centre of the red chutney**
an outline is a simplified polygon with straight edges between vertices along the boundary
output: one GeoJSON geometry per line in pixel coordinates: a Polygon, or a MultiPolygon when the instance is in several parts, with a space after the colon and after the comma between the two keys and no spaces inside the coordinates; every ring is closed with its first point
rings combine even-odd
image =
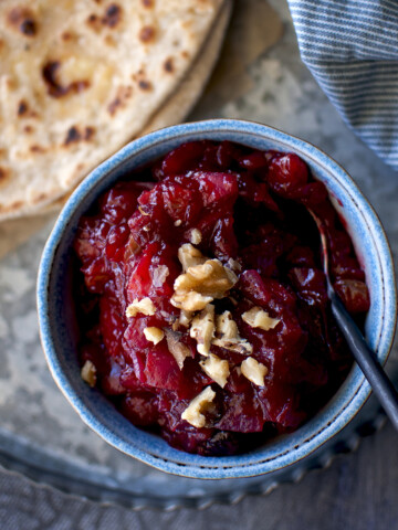
{"type": "Polygon", "coordinates": [[[174,284],[171,304],[187,311],[200,311],[214,298],[223,298],[238,282],[219,259],[207,259],[189,243],[178,250],[184,274],[174,284]]]}

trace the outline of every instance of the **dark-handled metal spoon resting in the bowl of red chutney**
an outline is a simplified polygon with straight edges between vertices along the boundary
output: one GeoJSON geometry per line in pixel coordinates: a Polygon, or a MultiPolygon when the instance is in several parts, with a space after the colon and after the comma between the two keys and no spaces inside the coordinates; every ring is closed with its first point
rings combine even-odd
{"type": "Polygon", "coordinates": [[[359,368],[364,372],[366,379],[369,381],[373,391],[381,403],[387,416],[398,431],[398,393],[378,362],[376,353],[368,347],[365,337],[332,286],[328,274],[328,252],[325,229],[321,219],[311,209],[308,209],[308,212],[314,219],[321,235],[323,267],[326,276],[327,295],[332,303],[332,312],[348,343],[355,360],[359,364],[359,368]]]}

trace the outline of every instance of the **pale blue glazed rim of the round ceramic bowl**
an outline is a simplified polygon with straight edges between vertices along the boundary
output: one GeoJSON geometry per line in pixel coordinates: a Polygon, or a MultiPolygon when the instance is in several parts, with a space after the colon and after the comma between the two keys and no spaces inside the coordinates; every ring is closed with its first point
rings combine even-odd
{"type": "MultiPolygon", "coordinates": [[[[384,278],[384,282],[389,288],[388,309],[392,310],[386,320],[386,328],[384,331],[385,347],[383,356],[378,354],[381,363],[386,362],[391,349],[397,320],[397,293],[392,256],[381,222],[352,177],[342,168],[342,166],[339,166],[328,155],[312,144],[283,132],[276,128],[254,121],[240,119],[209,119],[166,127],[150,132],[136,140],[133,140],[130,144],[96,167],[77,187],[64,205],[45,244],[39,266],[36,300],[40,337],[46,362],[57,386],[61,389],[67,401],[75,409],[84,423],[86,423],[107,443],[118,448],[123,453],[126,453],[127,455],[133,456],[157,469],[185,477],[208,479],[238,478],[262,475],[296,464],[318,449],[354,417],[354,415],[360,410],[369,396],[370,385],[365,380],[365,377],[362,374],[359,368],[357,365],[354,367],[348,375],[347,380],[350,380],[350,385],[347,386],[344,383],[344,392],[342,392],[343,388],[341,388],[341,390],[337,392],[337,394],[342,394],[339,395],[339,401],[335,402],[332,400],[332,402],[325,406],[325,412],[328,412],[328,415],[331,416],[327,424],[323,425],[322,427],[316,427],[315,424],[317,422],[320,423],[320,417],[317,417],[318,415],[315,416],[315,418],[306,422],[302,427],[300,427],[300,430],[295,431],[295,433],[302,433],[301,439],[303,443],[294,445],[294,447],[290,447],[290,451],[282,451],[279,455],[272,457],[266,457],[266,455],[263,454],[262,458],[260,458],[260,456],[261,453],[264,453],[264,449],[232,457],[202,457],[199,455],[190,455],[167,446],[168,452],[174,454],[174,457],[165,458],[151,453],[149,448],[143,449],[132,441],[123,441],[116,433],[113,432],[109,426],[104,425],[95,416],[95,414],[93,414],[85,406],[82,399],[77,395],[69,379],[63,373],[57,359],[57,353],[51,337],[51,319],[49,315],[50,308],[48,294],[52,274],[51,264],[63,239],[63,234],[69,229],[76,209],[85,199],[90,197],[93,188],[95,188],[98,182],[111,176],[111,173],[126,162],[126,160],[130,160],[145,149],[154,148],[156,145],[163,144],[165,140],[170,138],[180,139],[180,142],[182,144],[185,141],[185,136],[192,137],[206,134],[222,135],[222,132],[241,134],[245,137],[254,136],[263,139],[282,141],[289,149],[294,150],[300,156],[304,155],[306,158],[310,158],[315,166],[322,166],[337,177],[338,182],[342,186],[344,184],[346,191],[349,192],[348,195],[350,201],[353,202],[354,197],[356,202],[360,203],[362,209],[366,210],[365,213],[369,219],[373,229],[375,229],[377,241],[380,244],[378,254],[379,259],[381,259],[385,265],[383,271],[387,275],[387,277],[384,278]],[[314,158],[314,156],[316,158],[314,158]],[[178,454],[177,456],[176,453],[178,454]]],[[[356,204],[356,206],[358,206],[358,204],[356,204]]],[[[362,213],[364,212],[362,211],[362,213]]],[[[325,415],[325,412],[321,414],[325,415]]],[[[132,427],[133,431],[138,431],[138,427],[133,425],[132,427]]],[[[143,431],[140,431],[140,433],[143,433],[143,431]]],[[[149,433],[146,434],[148,436],[154,436],[149,433]]],[[[291,435],[286,436],[289,437],[291,435]]],[[[282,438],[283,437],[279,437],[279,439],[282,438]]]]}

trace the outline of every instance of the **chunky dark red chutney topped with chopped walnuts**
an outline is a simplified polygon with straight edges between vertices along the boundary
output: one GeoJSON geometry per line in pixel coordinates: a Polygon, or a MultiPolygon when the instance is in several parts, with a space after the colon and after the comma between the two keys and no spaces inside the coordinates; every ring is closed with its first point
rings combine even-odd
{"type": "Polygon", "coordinates": [[[298,427],[352,364],[306,208],[363,322],[350,237],[297,155],[193,141],[126,174],[74,241],[83,379],[189,453],[243,453],[298,427]]]}

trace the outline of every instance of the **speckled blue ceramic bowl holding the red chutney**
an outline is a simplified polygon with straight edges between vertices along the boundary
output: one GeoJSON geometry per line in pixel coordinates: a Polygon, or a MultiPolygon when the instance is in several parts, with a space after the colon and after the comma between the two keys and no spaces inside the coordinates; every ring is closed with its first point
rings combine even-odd
{"type": "Polygon", "coordinates": [[[258,149],[294,151],[323,181],[346,221],[366,272],[371,307],[366,336],[385,363],[396,326],[391,253],[381,224],[350,177],[324,152],[264,125],[214,119],[158,130],[139,138],[96,168],[67,201],[45,245],[38,279],[41,339],[55,382],[82,420],[111,445],[164,471],[193,478],[249,477],[294,465],[338,433],[358,413],[370,388],[357,365],[333,400],[292,434],[244,455],[203,457],[174,449],[160,437],[132,425],[80,375],[76,321],[71,300],[71,246],[78,220],[122,176],[176,146],[197,139],[231,140],[258,149]]]}

